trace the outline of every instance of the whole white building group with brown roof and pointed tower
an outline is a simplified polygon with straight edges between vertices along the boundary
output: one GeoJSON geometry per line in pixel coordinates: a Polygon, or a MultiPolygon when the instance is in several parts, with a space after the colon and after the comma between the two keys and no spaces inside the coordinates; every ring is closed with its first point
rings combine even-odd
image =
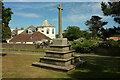
{"type": "Polygon", "coordinates": [[[46,19],[37,28],[33,25],[29,26],[24,30],[15,29],[12,31],[12,38],[7,41],[8,43],[18,43],[18,44],[33,44],[36,41],[42,41],[44,39],[54,39],[55,38],[55,26],[50,24],[46,19]]]}

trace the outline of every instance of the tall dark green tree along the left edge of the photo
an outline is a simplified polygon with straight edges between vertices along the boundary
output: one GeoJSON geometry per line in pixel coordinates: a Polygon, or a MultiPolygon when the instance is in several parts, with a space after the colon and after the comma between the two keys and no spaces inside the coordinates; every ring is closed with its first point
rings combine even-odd
{"type": "Polygon", "coordinates": [[[11,29],[9,27],[9,21],[13,12],[10,8],[5,8],[2,3],[2,40],[6,40],[11,37],[11,29]]]}

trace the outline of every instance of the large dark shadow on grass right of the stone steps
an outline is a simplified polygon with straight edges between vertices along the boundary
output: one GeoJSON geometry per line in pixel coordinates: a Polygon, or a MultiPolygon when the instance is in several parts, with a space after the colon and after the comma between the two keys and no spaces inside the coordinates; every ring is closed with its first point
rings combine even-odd
{"type": "Polygon", "coordinates": [[[84,59],[88,62],[69,73],[71,78],[120,78],[120,59],[93,57],[84,59]]]}

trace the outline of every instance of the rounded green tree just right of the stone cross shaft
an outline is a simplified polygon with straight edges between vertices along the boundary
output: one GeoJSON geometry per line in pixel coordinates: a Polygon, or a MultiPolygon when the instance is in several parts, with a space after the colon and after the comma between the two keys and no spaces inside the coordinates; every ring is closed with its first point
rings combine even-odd
{"type": "Polygon", "coordinates": [[[68,26],[67,30],[64,30],[63,37],[68,38],[68,40],[73,41],[82,37],[80,28],[77,26],[68,26]]]}

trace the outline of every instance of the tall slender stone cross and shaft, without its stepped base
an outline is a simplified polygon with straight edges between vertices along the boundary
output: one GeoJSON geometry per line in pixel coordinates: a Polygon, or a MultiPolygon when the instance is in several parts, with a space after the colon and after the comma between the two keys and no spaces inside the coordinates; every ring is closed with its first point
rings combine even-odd
{"type": "Polygon", "coordinates": [[[59,7],[57,7],[59,10],[59,38],[63,38],[62,36],[62,10],[61,4],[59,4],[59,7]]]}

